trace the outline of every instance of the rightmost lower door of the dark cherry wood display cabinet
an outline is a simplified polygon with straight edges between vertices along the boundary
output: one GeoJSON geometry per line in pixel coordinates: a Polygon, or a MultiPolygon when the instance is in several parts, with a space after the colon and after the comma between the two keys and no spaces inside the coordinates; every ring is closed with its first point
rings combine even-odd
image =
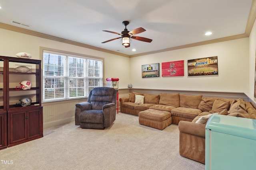
{"type": "Polygon", "coordinates": [[[27,113],[28,139],[42,135],[42,107],[27,113]]]}

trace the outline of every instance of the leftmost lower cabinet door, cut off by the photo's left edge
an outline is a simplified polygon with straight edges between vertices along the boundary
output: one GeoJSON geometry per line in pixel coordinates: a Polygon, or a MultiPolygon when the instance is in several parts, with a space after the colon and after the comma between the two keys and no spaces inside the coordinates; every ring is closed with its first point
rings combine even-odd
{"type": "Polygon", "coordinates": [[[7,117],[6,113],[0,113],[0,149],[7,146],[7,117]]]}

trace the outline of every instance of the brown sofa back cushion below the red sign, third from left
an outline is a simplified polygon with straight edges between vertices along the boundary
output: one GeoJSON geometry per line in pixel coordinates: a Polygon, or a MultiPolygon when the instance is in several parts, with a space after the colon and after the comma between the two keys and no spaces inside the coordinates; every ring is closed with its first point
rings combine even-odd
{"type": "Polygon", "coordinates": [[[180,107],[180,94],[160,94],[159,104],[180,107]]]}

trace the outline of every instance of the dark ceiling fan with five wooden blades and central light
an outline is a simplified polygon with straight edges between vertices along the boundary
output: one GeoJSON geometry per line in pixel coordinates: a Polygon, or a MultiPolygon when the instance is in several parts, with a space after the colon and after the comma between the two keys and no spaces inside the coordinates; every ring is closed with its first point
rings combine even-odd
{"type": "Polygon", "coordinates": [[[142,27],[139,27],[139,28],[136,28],[132,31],[128,31],[128,29],[126,29],[126,26],[128,24],[129,24],[129,21],[123,21],[123,25],[125,25],[125,29],[124,29],[124,31],[122,31],[122,33],[116,33],[116,32],[113,32],[113,31],[102,30],[102,31],[106,31],[106,32],[109,32],[109,33],[114,33],[114,34],[121,35],[121,37],[113,38],[113,39],[110,39],[108,41],[104,41],[102,43],[107,43],[109,41],[113,41],[115,39],[120,39],[120,38],[122,38],[121,39],[122,45],[124,45],[126,48],[130,47],[131,38],[135,39],[135,40],[138,40],[138,41],[144,41],[144,42],[147,42],[147,43],[151,43],[152,39],[134,36],[138,33],[142,33],[144,31],[146,31],[146,29],[144,29],[142,27]]]}

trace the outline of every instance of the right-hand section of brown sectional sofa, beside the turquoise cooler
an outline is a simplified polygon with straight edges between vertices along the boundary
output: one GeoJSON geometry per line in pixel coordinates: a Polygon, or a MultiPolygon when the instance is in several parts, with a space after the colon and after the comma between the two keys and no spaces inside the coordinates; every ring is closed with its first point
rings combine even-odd
{"type": "MultiPolygon", "coordinates": [[[[223,98],[202,98],[201,105],[204,107],[204,111],[200,113],[192,122],[180,121],[178,128],[180,130],[180,155],[192,160],[196,160],[205,164],[205,127],[207,119],[201,124],[196,121],[203,116],[210,115],[213,112],[224,113],[224,115],[244,117],[250,119],[256,119],[256,109],[250,104],[250,102],[244,100],[227,100],[223,98]],[[220,106],[219,111],[212,111],[215,101],[229,101],[228,109],[220,106]],[[207,109],[206,109],[207,108],[207,109]],[[225,109],[224,109],[225,108],[225,109]],[[224,110],[223,110],[224,109],[224,110]],[[221,111],[222,110],[222,111],[221,111]],[[226,113],[225,113],[226,112],[226,113]]],[[[203,108],[201,108],[203,109],[203,108]]]]}

